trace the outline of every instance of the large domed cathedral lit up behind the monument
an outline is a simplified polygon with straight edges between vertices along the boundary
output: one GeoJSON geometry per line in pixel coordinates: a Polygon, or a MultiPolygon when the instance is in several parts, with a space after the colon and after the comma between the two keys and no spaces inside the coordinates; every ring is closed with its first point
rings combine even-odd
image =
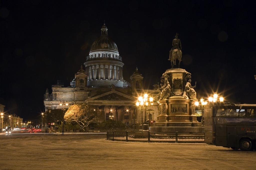
{"type": "Polygon", "coordinates": [[[122,57],[114,41],[108,36],[108,28],[103,24],[101,36],[91,46],[84,67],[75,74],[70,87],[61,84],[52,86],[44,95],[45,111],[62,109],[60,103],[86,103],[97,106],[105,120],[121,121],[127,126],[140,124],[141,120],[156,120],[158,105],[154,103],[146,111],[138,110],[136,101],[140,95],[147,93],[157,99],[157,90],[143,89],[143,76],[136,68],[131,75],[131,83],[123,80],[122,57]],[[85,68],[85,69],[84,69],[85,68]]]}

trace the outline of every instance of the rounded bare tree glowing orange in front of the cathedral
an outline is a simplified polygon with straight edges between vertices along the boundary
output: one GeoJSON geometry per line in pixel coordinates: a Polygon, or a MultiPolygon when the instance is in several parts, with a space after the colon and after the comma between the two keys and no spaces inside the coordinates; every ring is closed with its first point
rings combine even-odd
{"type": "Polygon", "coordinates": [[[76,122],[84,131],[90,123],[99,121],[100,112],[88,104],[74,104],[65,113],[67,122],[76,122]]]}

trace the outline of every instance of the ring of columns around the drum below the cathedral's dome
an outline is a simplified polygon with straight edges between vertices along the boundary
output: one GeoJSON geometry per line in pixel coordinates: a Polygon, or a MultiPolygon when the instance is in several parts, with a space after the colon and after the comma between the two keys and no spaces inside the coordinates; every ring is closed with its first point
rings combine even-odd
{"type": "Polygon", "coordinates": [[[120,80],[123,81],[123,67],[112,64],[94,64],[86,66],[87,80],[120,80]],[[100,71],[99,71],[100,70],[100,71]]]}

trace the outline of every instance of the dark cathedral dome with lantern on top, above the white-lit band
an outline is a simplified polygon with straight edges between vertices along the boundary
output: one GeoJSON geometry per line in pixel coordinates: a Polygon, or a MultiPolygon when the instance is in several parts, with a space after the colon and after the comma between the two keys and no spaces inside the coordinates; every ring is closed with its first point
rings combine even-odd
{"type": "Polygon", "coordinates": [[[90,53],[95,50],[114,50],[118,51],[118,48],[114,41],[108,36],[108,28],[105,24],[101,27],[101,36],[95,40],[91,46],[90,53]]]}

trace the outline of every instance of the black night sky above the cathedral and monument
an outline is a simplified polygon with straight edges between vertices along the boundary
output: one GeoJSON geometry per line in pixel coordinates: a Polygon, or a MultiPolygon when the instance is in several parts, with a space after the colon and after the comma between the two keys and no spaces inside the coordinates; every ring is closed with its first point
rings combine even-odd
{"type": "Polygon", "coordinates": [[[198,99],[217,91],[226,101],[256,103],[255,2],[0,1],[5,112],[40,119],[46,88],[51,94],[57,80],[70,86],[104,20],[124,80],[137,66],[145,88],[160,82],[178,32],[180,67],[197,82],[198,99]]]}

